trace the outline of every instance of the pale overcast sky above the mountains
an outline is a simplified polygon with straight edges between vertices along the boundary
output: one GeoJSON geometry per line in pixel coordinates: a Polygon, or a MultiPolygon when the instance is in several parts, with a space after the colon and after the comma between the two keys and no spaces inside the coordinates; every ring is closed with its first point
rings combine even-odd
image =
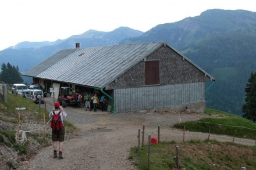
{"type": "Polygon", "coordinates": [[[256,12],[256,1],[228,0],[3,0],[0,50],[23,41],[56,41],[88,30],[118,27],[148,31],[158,24],[200,15],[207,9],[256,12]]]}

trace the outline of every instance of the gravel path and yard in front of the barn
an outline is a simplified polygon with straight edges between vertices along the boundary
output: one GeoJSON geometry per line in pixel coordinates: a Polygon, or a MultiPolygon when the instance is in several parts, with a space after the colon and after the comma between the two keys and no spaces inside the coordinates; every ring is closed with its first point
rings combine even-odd
{"type": "MultiPolygon", "coordinates": [[[[51,110],[52,106],[47,106],[51,110]]],[[[63,160],[53,158],[52,146],[42,149],[30,162],[23,162],[20,169],[136,169],[128,160],[129,150],[138,144],[138,129],[145,125],[145,141],[158,136],[160,140],[183,140],[183,132],[170,128],[180,121],[199,120],[202,114],[179,113],[121,113],[111,114],[98,110],[66,107],[67,121],[77,126],[79,136],[64,142],[63,160]]],[[[50,131],[48,128],[47,131],[50,131]]],[[[207,139],[208,134],[186,132],[185,140],[207,139]]],[[[211,139],[232,142],[227,136],[211,135],[211,139]]],[[[235,141],[254,145],[253,140],[235,141]]],[[[147,143],[145,143],[147,144],[147,143]]]]}

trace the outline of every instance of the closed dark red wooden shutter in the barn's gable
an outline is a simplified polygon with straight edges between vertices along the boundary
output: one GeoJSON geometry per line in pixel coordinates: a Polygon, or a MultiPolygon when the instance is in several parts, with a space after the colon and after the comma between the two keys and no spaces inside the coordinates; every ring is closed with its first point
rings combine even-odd
{"type": "Polygon", "coordinates": [[[145,62],[145,84],[159,84],[159,61],[145,62]]]}

